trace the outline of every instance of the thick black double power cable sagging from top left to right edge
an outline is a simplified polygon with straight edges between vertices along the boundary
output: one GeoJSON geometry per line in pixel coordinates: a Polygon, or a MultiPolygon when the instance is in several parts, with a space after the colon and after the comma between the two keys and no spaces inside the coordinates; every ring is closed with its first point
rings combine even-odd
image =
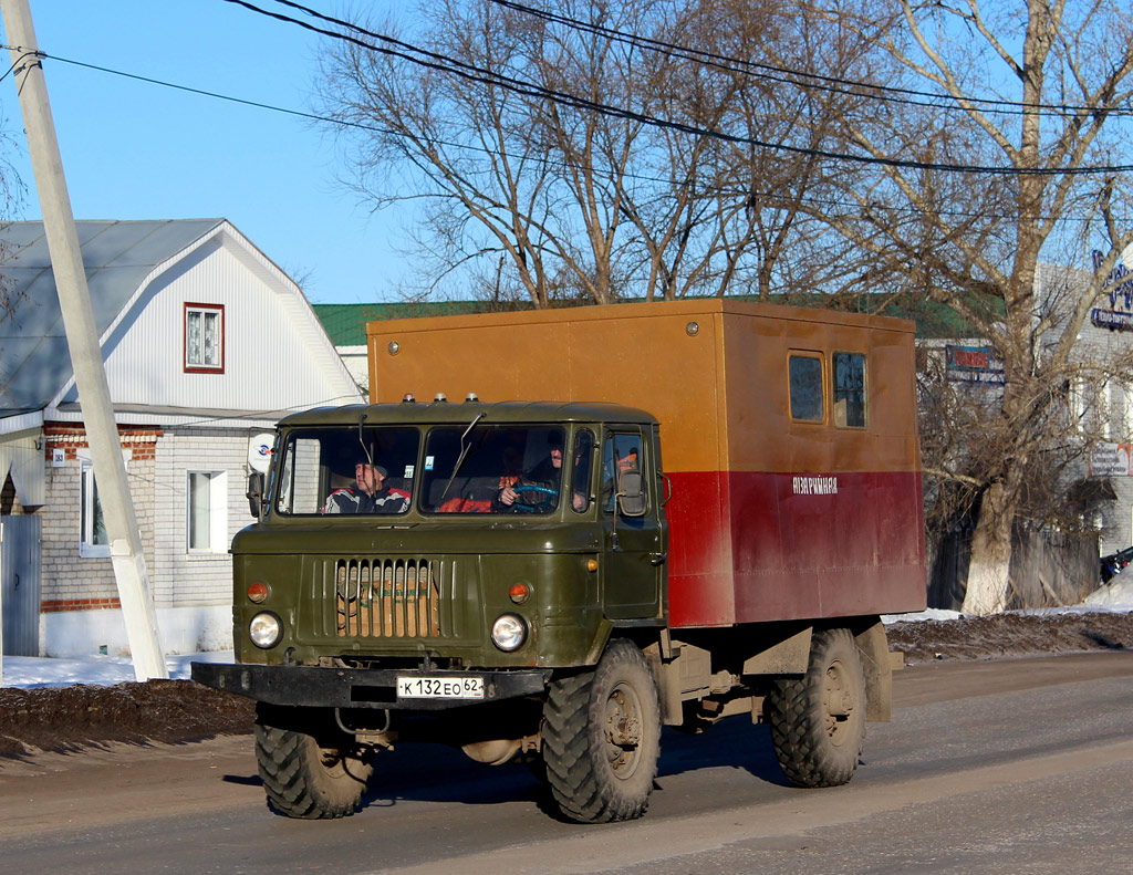
{"type": "Polygon", "coordinates": [[[411,43],[397,40],[394,37],[386,36],[384,34],[375,33],[373,31],[351,24],[350,22],[346,22],[343,19],[325,16],[322,12],[310,9],[309,7],[291,2],[291,0],[275,0],[275,2],[282,6],[287,6],[289,8],[301,10],[303,12],[320,20],[326,22],[327,24],[333,24],[335,26],[355,31],[356,33],[360,33],[365,36],[369,36],[374,40],[377,40],[381,43],[385,43],[385,45],[368,43],[364,40],[359,40],[358,37],[351,36],[347,33],[330,31],[324,27],[318,27],[307,22],[303,22],[298,18],[292,18],[281,12],[269,11],[258,6],[255,6],[252,2],[248,2],[248,0],[224,0],[224,2],[244,7],[253,12],[264,15],[270,18],[274,18],[276,20],[295,24],[299,27],[329,36],[331,39],[349,42],[353,45],[358,45],[359,48],[366,49],[367,51],[378,52],[387,57],[399,58],[401,60],[421,67],[426,67],[428,69],[434,69],[449,75],[459,76],[460,78],[463,78],[466,80],[476,82],[484,85],[497,86],[506,91],[521,94],[523,96],[548,100],[560,105],[571,107],[573,109],[585,110],[585,111],[597,112],[611,118],[616,118],[625,121],[636,121],[641,125],[648,125],[650,127],[657,127],[666,130],[689,134],[692,136],[712,137],[714,139],[732,143],[735,145],[756,146],[758,148],[787,152],[791,154],[803,155],[807,158],[824,158],[835,161],[847,161],[866,165],[889,167],[903,170],[932,170],[932,171],[949,172],[949,173],[976,173],[985,176],[1092,176],[1098,173],[1115,175],[1115,173],[1126,173],[1133,171],[1133,164],[1046,169],[1046,168],[988,167],[979,164],[952,164],[952,163],[936,163],[936,162],[929,163],[923,161],[877,158],[872,155],[852,155],[840,152],[828,152],[825,150],[808,148],[803,146],[791,146],[785,143],[777,143],[777,144],[768,143],[761,139],[757,139],[755,137],[744,137],[735,134],[726,134],[724,131],[714,130],[712,128],[701,128],[693,125],[688,125],[685,122],[661,119],[657,118],[656,116],[650,116],[644,112],[637,112],[634,110],[611,107],[608,104],[585,97],[579,97],[577,95],[566,92],[561,92],[538,85],[533,85],[530,83],[517,79],[511,76],[504,76],[503,74],[500,73],[494,73],[492,70],[487,70],[482,67],[467,63],[465,61],[455,60],[438,52],[420,49],[416,45],[412,45],[411,43]],[[394,46],[394,48],[389,48],[389,46],[394,46]]]}

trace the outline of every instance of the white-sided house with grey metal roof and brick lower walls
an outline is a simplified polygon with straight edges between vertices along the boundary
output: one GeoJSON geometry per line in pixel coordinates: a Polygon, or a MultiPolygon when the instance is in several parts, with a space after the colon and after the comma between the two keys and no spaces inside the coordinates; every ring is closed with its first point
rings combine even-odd
{"type": "MultiPolygon", "coordinates": [[[[360,392],[299,287],[229,222],[78,231],[163,645],[230,646],[249,442],[284,413],[360,392]]],[[[27,555],[3,563],[3,652],[125,654],[42,223],[2,226],[0,244],[14,305],[0,322],[0,525],[37,542],[3,542],[27,555]]]]}

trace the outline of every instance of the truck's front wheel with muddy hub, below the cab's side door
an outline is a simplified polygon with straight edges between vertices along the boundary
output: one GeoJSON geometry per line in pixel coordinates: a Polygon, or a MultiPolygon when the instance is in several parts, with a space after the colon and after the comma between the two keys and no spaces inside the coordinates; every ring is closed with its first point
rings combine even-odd
{"type": "Polygon", "coordinates": [[[563,816],[579,823],[645,814],[661,754],[661,705],[645,655],[611,642],[594,671],[551,682],[543,761],[563,816]]]}

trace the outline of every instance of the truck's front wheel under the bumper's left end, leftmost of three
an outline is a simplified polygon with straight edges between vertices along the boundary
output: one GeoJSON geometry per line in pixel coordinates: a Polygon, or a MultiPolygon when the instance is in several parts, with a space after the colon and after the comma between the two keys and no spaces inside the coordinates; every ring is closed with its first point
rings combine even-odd
{"type": "Polygon", "coordinates": [[[374,771],[351,739],[316,739],[256,721],[256,762],[267,801],[288,817],[320,819],[353,814],[374,771]]]}

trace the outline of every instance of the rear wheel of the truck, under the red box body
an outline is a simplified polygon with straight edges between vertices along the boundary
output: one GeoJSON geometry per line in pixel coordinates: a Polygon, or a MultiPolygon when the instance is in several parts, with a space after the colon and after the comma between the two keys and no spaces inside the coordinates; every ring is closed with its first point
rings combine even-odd
{"type": "Polygon", "coordinates": [[[838,787],[853,778],[866,741],[866,680],[849,629],[815,630],[806,676],[773,685],[768,723],[791,783],[838,787]]]}

